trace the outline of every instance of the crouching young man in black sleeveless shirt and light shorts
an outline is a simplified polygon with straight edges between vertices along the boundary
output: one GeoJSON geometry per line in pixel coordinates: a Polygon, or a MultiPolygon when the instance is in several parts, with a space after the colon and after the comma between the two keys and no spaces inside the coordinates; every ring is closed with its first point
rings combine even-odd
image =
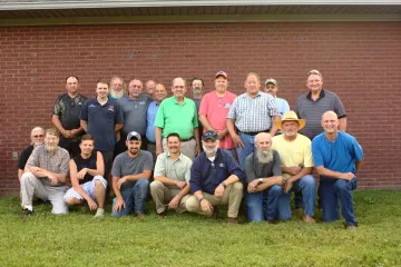
{"type": "Polygon", "coordinates": [[[79,145],[80,155],[70,160],[72,188],[68,189],[63,199],[68,205],[82,205],[87,201],[90,210],[96,209],[95,217],[104,217],[107,181],[101,176],[105,164],[101,152],[94,151],[94,137],[84,135],[79,145]]]}

